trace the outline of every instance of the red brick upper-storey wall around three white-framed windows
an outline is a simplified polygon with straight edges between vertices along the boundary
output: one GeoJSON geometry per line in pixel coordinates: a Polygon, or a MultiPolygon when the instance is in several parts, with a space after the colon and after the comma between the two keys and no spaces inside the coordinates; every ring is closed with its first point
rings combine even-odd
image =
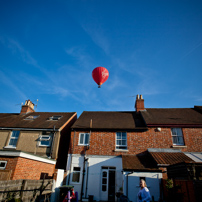
{"type": "MultiPolygon", "coordinates": [[[[74,149],[74,154],[83,154],[85,148],[79,146],[79,133],[89,131],[81,131],[71,133],[70,153],[74,149]],[[74,143],[74,146],[73,146],[74,143]]],[[[201,128],[184,128],[183,129],[184,147],[176,147],[183,152],[201,152],[202,151],[202,129],[201,128]]],[[[144,152],[148,148],[173,148],[171,129],[149,128],[145,132],[127,132],[127,152],[115,151],[116,132],[92,132],[90,137],[90,147],[86,154],[92,155],[120,155],[120,154],[138,154],[144,152]]]]}

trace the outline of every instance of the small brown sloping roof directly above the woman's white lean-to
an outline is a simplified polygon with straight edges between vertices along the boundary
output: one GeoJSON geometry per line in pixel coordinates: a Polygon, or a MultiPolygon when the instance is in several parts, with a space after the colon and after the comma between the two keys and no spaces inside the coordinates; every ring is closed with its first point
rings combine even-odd
{"type": "Polygon", "coordinates": [[[122,155],[123,170],[159,171],[149,155],[122,155]]]}

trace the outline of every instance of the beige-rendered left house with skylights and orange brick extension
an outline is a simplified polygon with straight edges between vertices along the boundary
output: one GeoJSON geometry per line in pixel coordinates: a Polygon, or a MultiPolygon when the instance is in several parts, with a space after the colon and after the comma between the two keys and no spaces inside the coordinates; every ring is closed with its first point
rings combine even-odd
{"type": "Polygon", "coordinates": [[[0,113],[0,180],[52,177],[66,168],[75,112],[35,112],[27,100],[21,112],[0,113]]]}

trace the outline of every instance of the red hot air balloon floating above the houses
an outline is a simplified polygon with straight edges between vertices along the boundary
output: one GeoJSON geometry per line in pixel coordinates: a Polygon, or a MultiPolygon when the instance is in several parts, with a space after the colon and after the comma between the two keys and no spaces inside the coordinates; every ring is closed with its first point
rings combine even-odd
{"type": "Polygon", "coordinates": [[[100,88],[101,85],[108,79],[109,72],[104,67],[96,67],[92,71],[92,77],[94,81],[98,84],[98,88],[100,88]]]}

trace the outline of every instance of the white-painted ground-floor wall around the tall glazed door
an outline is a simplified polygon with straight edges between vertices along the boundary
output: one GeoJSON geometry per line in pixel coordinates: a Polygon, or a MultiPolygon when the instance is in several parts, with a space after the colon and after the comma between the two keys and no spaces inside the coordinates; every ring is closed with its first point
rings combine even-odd
{"type": "MultiPolygon", "coordinates": [[[[101,195],[101,167],[116,167],[116,191],[119,190],[120,187],[123,186],[122,183],[122,158],[117,156],[99,156],[99,155],[88,155],[88,162],[86,164],[86,174],[85,177],[88,175],[88,186],[86,192],[86,178],[84,182],[84,196],[93,195],[94,200],[99,201],[101,195]],[[89,171],[87,174],[87,165],[89,167],[89,171]]],[[[69,158],[70,159],[70,158],[69,158]]],[[[83,171],[83,156],[80,155],[72,155],[72,163],[71,163],[71,172],[73,167],[81,167],[81,171],[83,171]]],[[[69,165],[69,164],[68,164],[69,165]]],[[[72,183],[70,177],[70,185],[73,185],[75,191],[78,192],[79,199],[81,194],[81,183],[82,183],[82,172],[80,175],[80,183],[72,183]]]]}

